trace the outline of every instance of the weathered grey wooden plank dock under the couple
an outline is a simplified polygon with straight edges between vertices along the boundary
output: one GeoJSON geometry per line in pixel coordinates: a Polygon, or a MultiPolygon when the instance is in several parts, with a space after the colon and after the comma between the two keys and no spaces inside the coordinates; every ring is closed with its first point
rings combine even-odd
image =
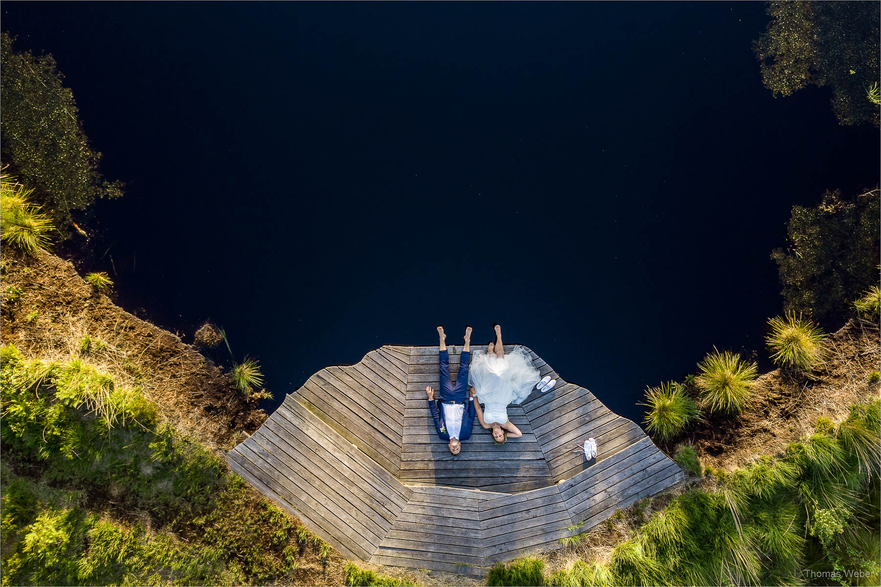
{"type": "MultiPolygon", "coordinates": [[[[449,347],[454,381],[461,350],[449,347]]],[[[478,576],[684,478],[639,426],[527,350],[558,382],[508,407],[523,437],[506,444],[475,421],[451,455],[426,403],[438,348],[387,346],[315,373],[228,462],[346,557],[478,576]],[[588,437],[590,461],[573,452],[588,437]]]]}

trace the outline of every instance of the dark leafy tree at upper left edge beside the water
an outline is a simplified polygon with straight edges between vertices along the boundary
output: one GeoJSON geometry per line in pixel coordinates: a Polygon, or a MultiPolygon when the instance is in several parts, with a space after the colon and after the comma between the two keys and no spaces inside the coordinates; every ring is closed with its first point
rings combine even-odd
{"type": "Polygon", "coordinates": [[[12,43],[0,34],[0,158],[7,172],[33,187],[33,201],[66,233],[75,211],[95,198],[122,195],[122,182],[98,171],[101,154],[83,132],[73,92],[63,87],[52,55],[18,52],[12,43]]]}

